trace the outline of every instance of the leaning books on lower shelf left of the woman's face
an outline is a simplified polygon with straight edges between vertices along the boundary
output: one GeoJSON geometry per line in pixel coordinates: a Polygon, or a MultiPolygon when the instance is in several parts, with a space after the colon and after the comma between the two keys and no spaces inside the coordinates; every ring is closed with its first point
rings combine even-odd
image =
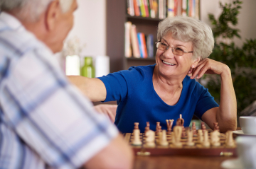
{"type": "Polygon", "coordinates": [[[154,57],[154,37],[137,33],[136,25],[128,21],[125,26],[125,57],[151,58],[154,57]]]}

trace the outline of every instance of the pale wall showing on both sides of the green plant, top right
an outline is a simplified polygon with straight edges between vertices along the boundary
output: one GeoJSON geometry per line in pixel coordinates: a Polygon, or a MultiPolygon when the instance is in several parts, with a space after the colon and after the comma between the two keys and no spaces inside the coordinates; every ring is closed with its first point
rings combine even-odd
{"type": "MultiPolygon", "coordinates": [[[[213,13],[215,18],[220,16],[219,1],[222,3],[230,3],[233,0],[201,0],[201,20],[210,25],[208,13],[213,13]]],[[[235,28],[240,29],[241,39],[235,38],[235,45],[241,46],[245,39],[256,38],[256,1],[244,0],[242,8],[238,14],[238,25],[235,28]]]]}

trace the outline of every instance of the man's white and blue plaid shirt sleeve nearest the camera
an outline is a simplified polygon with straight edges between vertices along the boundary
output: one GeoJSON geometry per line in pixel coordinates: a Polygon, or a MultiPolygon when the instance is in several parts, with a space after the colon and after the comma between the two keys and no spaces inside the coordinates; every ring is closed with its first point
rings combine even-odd
{"type": "Polygon", "coordinates": [[[57,64],[46,47],[11,62],[1,81],[1,108],[6,123],[50,167],[80,168],[118,131],[57,64]]]}

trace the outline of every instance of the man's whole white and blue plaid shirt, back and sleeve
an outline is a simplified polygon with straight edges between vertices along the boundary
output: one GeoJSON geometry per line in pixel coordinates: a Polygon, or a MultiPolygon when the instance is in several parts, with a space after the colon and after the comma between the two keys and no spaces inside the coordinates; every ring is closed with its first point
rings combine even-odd
{"type": "Polygon", "coordinates": [[[0,14],[0,168],[79,168],[117,136],[53,53],[0,14]]]}

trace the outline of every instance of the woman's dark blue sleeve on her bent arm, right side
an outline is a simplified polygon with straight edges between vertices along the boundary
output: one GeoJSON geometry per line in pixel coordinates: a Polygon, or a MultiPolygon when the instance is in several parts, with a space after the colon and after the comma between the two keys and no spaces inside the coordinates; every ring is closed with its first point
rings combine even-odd
{"type": "Polygon", "coordinates": [[[208,88],[204,88],[203,86],[198,86],[201,95],[199,94],[198,101],[196,103],[196,110],[195,115],[200,120],[202,120],[202,115],[207,111],[212,109],[213,107],[218,107],[218,103],[215,102],[214,98],[210,93],[208,92],[208,88]]]}

